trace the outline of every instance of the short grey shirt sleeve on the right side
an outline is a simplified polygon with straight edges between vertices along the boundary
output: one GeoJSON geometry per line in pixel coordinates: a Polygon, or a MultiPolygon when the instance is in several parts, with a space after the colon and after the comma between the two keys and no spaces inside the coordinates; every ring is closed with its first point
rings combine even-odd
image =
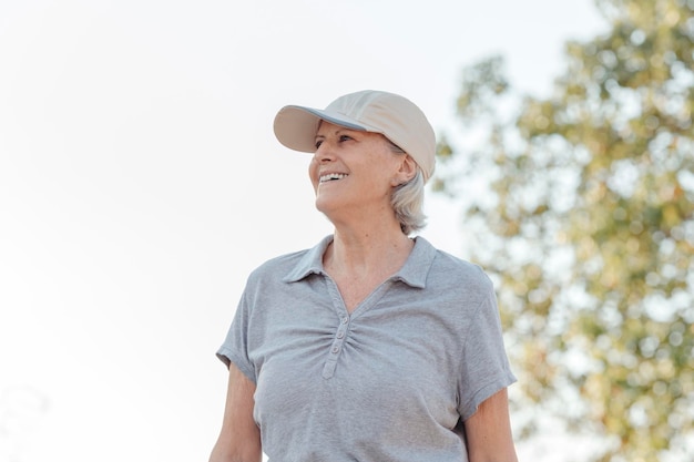
{"type": "Polygon", "coordinates": [[[463,340],[459,409],[467,420],[492,394],[516,381],[503,347],[501,321],[493,289],[482,298],[463,340]]]}

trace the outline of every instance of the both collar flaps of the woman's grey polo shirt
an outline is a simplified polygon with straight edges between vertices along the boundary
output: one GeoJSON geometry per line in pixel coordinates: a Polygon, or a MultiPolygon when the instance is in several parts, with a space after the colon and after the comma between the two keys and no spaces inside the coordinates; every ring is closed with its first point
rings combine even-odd
{"type": "MultiPolygon", "coordinates": [[[[285,283],[297,283],[308,275],[325,274],[323,254],[333,242],[333,235],[324,237],[318,245],[308,249],[296,266],[283,278],[285,283]]],[[[421,236],[415,238],[415,247],[405,265],[392,275],[391,279],[423,289],[427,286],[427,275],[436,257],[436,248],[421,236]]]]}

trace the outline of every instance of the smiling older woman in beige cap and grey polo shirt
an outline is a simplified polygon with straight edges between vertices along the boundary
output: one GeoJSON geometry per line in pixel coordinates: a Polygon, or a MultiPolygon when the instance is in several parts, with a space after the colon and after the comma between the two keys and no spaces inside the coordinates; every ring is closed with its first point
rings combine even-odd
{"type": "Polygon", "coordinates": [[[422,237],[436,138],[409,100],[363,91],[286,106],[313,153],[316,247],[249,276],[217,356],[229,382],[211,462],[517,461],[493,288],[422,237]]]}

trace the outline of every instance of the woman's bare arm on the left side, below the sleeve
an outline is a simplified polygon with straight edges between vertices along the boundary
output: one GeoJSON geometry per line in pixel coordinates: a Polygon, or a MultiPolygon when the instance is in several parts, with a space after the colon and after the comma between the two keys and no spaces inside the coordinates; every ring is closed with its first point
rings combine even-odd
{"type": "Polygon", "coordinates": [[[210,462],[259,462],[261,431],[253,420],[253,383],[232,362],[222,431],[210,462]]]}

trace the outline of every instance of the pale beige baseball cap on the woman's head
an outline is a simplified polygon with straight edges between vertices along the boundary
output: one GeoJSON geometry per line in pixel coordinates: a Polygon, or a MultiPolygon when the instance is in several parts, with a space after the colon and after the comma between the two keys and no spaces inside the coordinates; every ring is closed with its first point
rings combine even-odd
{"type": "Polygon", "coordinates": [[[320,121],[380,133],[417,162],[425,181],[433,174],[436,134],[425,113],[404,96],[365,90],[340,96],[325,110],[284,106],[275,116],[275,136],[290,150],[314,153],[320,121]]]}

